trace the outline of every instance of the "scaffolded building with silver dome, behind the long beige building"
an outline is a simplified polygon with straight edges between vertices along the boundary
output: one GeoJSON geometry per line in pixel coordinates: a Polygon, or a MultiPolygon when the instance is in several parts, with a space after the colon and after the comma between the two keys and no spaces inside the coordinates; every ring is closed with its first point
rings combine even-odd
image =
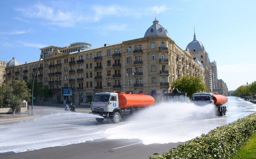
{"type": "MultiPolygon", "coordinates": [[[[205,85],[207,86],[207,91],[212,92],[213,90],[212,66],[210,64],[208,53],[205,51],[204,45],[200,41],[196,40],[195,32],[194,32],[194,39],[187,45],[186,51],[188,51],[193,58],[197,58],[203,64],[204,74],[205,74],[205,85]]],[[[216,67],[216,72],[217,72],[217,67],[216,67]]],[[[214,74],[214,76],[217,77],[217,74],[214,74]]]]}

